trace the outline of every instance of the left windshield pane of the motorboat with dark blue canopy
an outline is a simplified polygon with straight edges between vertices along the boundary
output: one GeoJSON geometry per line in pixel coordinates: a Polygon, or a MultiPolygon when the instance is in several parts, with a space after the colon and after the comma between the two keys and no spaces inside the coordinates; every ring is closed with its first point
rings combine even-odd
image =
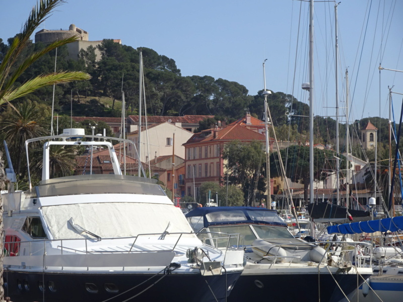
{"type": "MultiPolygon", "coordinates": [[[[239,234],[239,244],[242,245],[250,245],[256,239],[256,236],[253,234],[252,230],[250,229],[249,224],[242,224],[242,225],[228,225],[228,226],[211,226],[209,228],[210,232],[221,232],[224,234],[233,234],[234,236],[231,237],[229,246],[237,246],[238,245],[238,236],[235,234],[239,234]]],[[[219,237],[220,234],[212,234],[212,237],[219,237]]],[[[220,241],[221,245],[225,246],[218,246],[218,247],[226,247],[228,239],[220,241]]]]}

